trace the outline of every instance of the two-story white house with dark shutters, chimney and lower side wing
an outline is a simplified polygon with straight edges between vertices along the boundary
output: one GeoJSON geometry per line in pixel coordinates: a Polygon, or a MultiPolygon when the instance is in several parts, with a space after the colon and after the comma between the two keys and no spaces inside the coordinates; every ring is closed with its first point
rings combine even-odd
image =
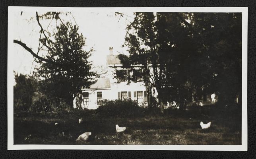
{"type": "MultiPolygon", "coordinates": [[[[129,84],[125,77],[114,78],[116,71],[124,74],[128,74],[128,72],[122,69],[118,55],[113,54],[112,47],[109,48],[109,55],[107,55],[106,60],[106,77],[97,79],[97,82],[89,88],[82,88],[82,107],[85,109],[97,109],[99,101],[103,99],[131,99],[137,101],[139,105],[147,105],[147,92],[143,77],[137,77],[135,82],[130,82],[129,84]]],[[[141,71],[139,66],[136,71],[141,71]]],[[[76,106],[74,105],[74,107],[76,106]]]]}

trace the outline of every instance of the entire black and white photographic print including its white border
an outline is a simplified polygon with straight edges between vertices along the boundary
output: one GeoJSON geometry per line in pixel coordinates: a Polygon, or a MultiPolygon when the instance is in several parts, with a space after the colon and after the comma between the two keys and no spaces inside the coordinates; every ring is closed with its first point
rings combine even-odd
{"type": "Polygon", "coordinates": [[[8,14],[8,149],[247,150],[247,8],[8,14]]]}

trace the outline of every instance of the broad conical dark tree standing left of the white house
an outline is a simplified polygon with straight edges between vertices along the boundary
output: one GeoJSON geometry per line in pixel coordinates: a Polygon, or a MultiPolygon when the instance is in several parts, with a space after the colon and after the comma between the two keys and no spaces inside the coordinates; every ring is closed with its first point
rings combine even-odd
{"type": "Polygon", "coordinates": [[[88,61],[92,50],[85,51],[85,38],[78,32],[78,27],[70,23],[61,24],[54,34],[54,42],[46,56],[60,64],[43,63],[39,75],[43,78],[42,91],[45,94],[64,99],[73,107],[74,98],[81,92],[82,87],[89,87],[95,73],[91,72],[88,61]]]}

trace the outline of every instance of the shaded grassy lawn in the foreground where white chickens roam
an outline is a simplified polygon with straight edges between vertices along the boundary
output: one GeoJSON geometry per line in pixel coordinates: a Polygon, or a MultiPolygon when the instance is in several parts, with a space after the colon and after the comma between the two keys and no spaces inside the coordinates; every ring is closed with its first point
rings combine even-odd
{"type": "Polygon", "coordinates": [[[81,144],[75,140],[83,132],[92,135],[82,144],[240,145],[241,116],[210,108],[173,109],[140,117],[104,117],[95,111],[14,114],[14,144],[81,144]],[[83,123],[78,124],[80,117],[83,123]],[[212,125],[202,130],[200,121],[212,125]],[[118,134],[116,124],[128,129],[118,134]]]}

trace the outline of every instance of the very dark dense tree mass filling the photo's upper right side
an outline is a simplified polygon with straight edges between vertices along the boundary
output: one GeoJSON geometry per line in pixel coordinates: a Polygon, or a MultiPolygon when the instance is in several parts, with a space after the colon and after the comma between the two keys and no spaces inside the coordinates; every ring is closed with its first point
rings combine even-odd
{"type": "MultiPolygon", "coordinates": [[[[168,68],[175,73],[170,78],[170,97],[179,101],[180,106],[186,106],[192,100],[215,93],[219,101],[232,104],[237,96],[241,97],[241,14],[176,13],[173,16],[187,29],[185,36],[180,29],[171,32],[175,38],[167,36],[167,41],[175,39],[173,62],[168,68]]],[[[167,23],[172,26],[175,21],[167,18],[167,23]]]]}

